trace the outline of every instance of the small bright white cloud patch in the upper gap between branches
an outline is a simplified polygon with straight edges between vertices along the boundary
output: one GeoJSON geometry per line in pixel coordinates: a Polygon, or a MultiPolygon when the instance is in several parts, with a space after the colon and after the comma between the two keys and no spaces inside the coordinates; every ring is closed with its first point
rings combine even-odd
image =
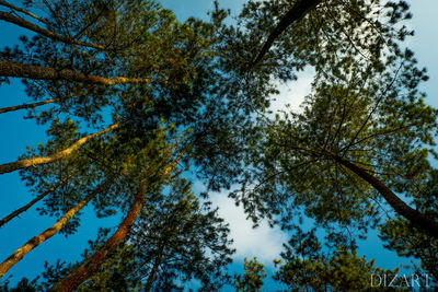
{"type": "Polygon", "coordinates": [[[300,105],[304,101],[304,96],[310,93],[311,83],[314,78],[314,70],[308,68],[307,70],[298,73],[296,81],[288,83],[279,83],[279,95],[272,96],[270,107],[273,114],[278,110],[287,110],[286,105],[289,104],[289,110],[300,112],[300,105]],[[275,100],[274,100],[275,98],[275,100]]]}

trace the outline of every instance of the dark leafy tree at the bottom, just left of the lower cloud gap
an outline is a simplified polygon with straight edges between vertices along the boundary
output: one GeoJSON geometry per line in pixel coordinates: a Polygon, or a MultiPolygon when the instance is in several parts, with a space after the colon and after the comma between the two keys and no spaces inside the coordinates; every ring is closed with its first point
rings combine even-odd
{"type": "Polygon", "coordinates": [[[192,279],[200,282],[200,291],[219,290],[230,280],[227,266],[234,253],[228,233],[217,210],[191,191],[189,182],[175,179],[169,194],[149,200],[128,236],[138,246],[137,275],[145,291],[180,291],[192,279]]]}

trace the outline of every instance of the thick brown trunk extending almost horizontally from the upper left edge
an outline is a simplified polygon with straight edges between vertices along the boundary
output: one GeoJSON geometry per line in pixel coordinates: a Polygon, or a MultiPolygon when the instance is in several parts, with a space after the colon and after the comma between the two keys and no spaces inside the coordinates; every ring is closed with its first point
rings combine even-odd
{"type": "Polygon", "coordinates": [[[83,82],[89,84],[102,84],[102,85],[149,83],[151,81],[150,79],[140,79],[140,78],[125,78],[125,77],[104,78],[97,75],[88,75],[84,73],[76,72],[70,69],[58,70],[49,67],[24,65],[13,61],[0,61],[0,75],[30,78],[36,80],[67,80],[67,81],[83,82]]]}

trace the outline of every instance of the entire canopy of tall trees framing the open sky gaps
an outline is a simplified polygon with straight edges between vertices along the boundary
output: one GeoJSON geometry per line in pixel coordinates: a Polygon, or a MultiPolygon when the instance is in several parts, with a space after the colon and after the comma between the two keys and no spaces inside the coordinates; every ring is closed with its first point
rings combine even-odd
{"type": "Polygon", "coordinates": [[[360,291],[394,272],[358,257],[369,230],[437,276],[438,112],[405,42],[408,3],[250,0],[235,21],[229,13],[215,2],[208,20],[180,22],[153,0],[0,1],[0,20],[30,32],[0,52],[0,82],[22,79],[28,103],[0,114],[27,109],[48,127],[47,142],[0,165],[34,196],[0,224],[37,202],[56,220],[0,264],[0,278],[57,233],[74,236],[85,206],[122,214],[81,261],[46,264],[42,279],[2,290],[173,291],[198,280],[203,291],[260,291],[256,259],[232,281],[211,190],[289,232],[274,277],[288,289],[360,291]],[[270,115],[278,82],[306,68],[315,75],[301,109],[270,115]],[[314,220],[308,233],[303,219],[314,220]]]}

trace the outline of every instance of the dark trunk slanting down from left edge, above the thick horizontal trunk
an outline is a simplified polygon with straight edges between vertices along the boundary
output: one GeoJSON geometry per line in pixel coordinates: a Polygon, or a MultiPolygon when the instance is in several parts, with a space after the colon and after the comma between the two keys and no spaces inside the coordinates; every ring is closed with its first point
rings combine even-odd
{"type": "Polygon", "coordinates": [[[104,46],[100,46],[100,45],[95,45],[95,44],[90,44],[90,43],[85,43],[85,42],[80,42],[78,39],[71,39],[69,37],[65,37],[62,35],[59,35],[57,33],[50,32],[48,30],[45,30],[36,24],[33,24],[32,22],[28,22],[26,20],[16,17],[14,15],[12,15],[11,13],[8,12],[3,12],[0,11],[0,20],[3,20],[5,22],[9,23],[13,23],[15,25],[19,25],[21,27],[24,27],[26,30],[30,30],[32,32],[35,32],[37,34],[44,35],[48,38],[51,38],[54,40],[58,40],[58,42],[62,42],[65,44],[68,45],[79,45],[79,46],[83,46],[83,47],[90,47],[90,48],[94,48],[94,49],[101,49],[104,50],[105,47],[104,46]]]}

